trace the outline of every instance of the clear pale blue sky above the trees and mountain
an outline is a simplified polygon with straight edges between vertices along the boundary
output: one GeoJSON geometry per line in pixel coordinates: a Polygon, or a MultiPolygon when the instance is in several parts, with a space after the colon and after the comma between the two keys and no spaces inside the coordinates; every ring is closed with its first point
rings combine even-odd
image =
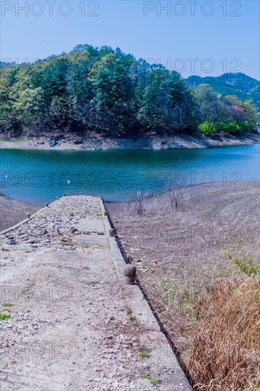
{"type": "Polygon", "coordinates": [[[1,60],[109,45],[189,75],[259,80],[259,1],[1,0],[1,60]]]}

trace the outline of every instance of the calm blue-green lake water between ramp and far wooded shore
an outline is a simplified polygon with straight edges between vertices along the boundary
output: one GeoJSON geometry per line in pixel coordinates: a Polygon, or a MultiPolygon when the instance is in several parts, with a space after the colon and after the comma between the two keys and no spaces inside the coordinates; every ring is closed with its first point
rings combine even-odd
{"type": "Polygon", "coordinates": [[[156,151],[1,150],[1,193],[38,205],[57,195],[126,200],[131,191],[259,179],[260,144],[156,151]]]}

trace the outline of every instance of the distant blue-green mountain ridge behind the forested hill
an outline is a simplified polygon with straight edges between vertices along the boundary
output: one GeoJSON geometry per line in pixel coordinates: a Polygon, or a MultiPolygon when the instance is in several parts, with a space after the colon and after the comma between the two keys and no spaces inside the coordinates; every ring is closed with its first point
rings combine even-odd
{"type": "Polygon", "coordinates": [[[252,99],[260,109],[260,82],[244,73],[224,73],[218,77],[190,76],[186,81],[195,87],[209,84],[221,95],[236,95],[241,100],[252,99]]]}

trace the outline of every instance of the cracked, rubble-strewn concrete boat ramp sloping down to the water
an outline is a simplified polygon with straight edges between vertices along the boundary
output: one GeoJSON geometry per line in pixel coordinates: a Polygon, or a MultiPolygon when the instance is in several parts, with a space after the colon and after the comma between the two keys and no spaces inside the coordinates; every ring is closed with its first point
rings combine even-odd
{"type": "Polygon", "coordinates": [[[110,229],[77,195],[1,232],[1,391],[191,390],[110,229]]]}

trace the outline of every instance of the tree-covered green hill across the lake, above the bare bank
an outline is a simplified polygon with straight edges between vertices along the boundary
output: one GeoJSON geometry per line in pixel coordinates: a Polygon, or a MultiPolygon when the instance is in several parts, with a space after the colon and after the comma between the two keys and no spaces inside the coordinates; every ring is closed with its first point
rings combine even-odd
{"type": "Polygon", "coordinates": [[[28,64],[1,63],[0,132],[4,136],[109,136],[144,132],[255,131],[248,100],[189,87],[175,71],[136,60],[119,48],[77,45],[28,64]]]}

